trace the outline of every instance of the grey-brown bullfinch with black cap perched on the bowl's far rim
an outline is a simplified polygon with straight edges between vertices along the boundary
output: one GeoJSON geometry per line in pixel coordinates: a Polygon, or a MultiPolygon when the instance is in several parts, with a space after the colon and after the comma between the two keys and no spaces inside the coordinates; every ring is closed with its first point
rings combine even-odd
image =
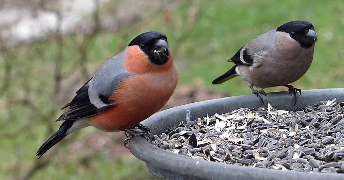
{"type": "MultiPolygon", "coordinates": [[[[307,21],[290,21],[270,30],[239,49],[228,61],[235,65],[216,78],[213,84],[221,84],[235,76],[241,76],[252,93],[264,104],[261,95],[265,92],[253,86],[265,88],[285,86],[295,103],[301,89],[289,85],[302,77],[313,60],[315,41],[318,40],[314,27],[307,21]]],[[[265,94],[266,95],[266,94],[265,94]]]]}

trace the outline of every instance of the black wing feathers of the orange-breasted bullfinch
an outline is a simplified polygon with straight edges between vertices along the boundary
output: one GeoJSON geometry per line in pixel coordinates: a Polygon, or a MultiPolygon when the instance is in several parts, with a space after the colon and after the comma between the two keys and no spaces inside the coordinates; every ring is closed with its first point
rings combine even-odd
{"type": "MultiPolygon", "coordinates": [[[[92,78],[91,78],[92,79],[92,78]]],[[[90,81],[90,80],[88,80],[90,81]]],[[[88,83],[88,82],[87,82],[88,83]]],[[[56,121],[59,120],[76,120],[88,116],[92,116],[95,114],[98,114],[100,112],[103,112],[110,107],[112,107],[111,104],[109,104],[108,97],[105,97],[103,95],[99,95],[99,98],[105,103],[109,104],[108,106],[97,108],[95,107],[89,99],[88,96],[88,86],[87,83],[82,86],[77,92],[75,97],[72,99],[72,101],[65,106],[63,106],[61,109],[64,109],[69,106],[69,109],[67,112],[63,113],[59,118],[56,119],[56,121]]]]}

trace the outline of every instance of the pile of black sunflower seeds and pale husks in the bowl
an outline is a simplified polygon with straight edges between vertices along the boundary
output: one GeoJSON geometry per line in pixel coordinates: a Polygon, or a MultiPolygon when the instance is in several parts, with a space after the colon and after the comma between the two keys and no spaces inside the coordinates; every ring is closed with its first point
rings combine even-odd
{"type": "Polygon", "coordinates": [[[298,111],[270,104],[198,118],[154,135],[152,144],[196,159],[292,171],[344,173],[344,102],[298,111]]]}

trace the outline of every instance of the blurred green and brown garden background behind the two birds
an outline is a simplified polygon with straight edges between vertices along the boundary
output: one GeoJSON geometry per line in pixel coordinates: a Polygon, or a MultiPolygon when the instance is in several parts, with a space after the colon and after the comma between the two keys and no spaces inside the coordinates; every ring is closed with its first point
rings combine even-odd
{"type": "MultiPolygon", "coordinates": [[[[25,8],[33,12],[33,18],[42,11],[61,17],[55,19],[53,28],[26,40],[13,40],[8,35],[20,32],[22,26],[0,25],[0,179],[154,179],[144,163],[123,148],[122,133],[85,128],[40,160],[35,157],[37,148],[60,125],[54,123],[63,112],[59,108],[101,64],[145,31],[167,35],[179,73],[176,93],[165,108],[250,94],[240,78],[221,85],[211,82],[232,67],[226,60],[245,43],[291,20],[312,22],[319,36],[309,71],[293,85],[302,89],[344,86],[342,0],[87,2],[98,5],[89,13],[76,15],[79,21],[69,27],[64,24],[72,16],[65,12],[68,3],[78,9],[90,6],[83,4],[86,1],[73,5],[71,0],[4,0],[0,4],[0,12],[7,12],[9,19],[12,11],[26,12],[22,11],[25,8]],[[190,92],[203,94],[186,98],[190,92]]],[[[42,21],[42,26],[51,23],[49,19],[42,21]]],[[[266,89],[273,91],[286,88],[266,89]]]]}

